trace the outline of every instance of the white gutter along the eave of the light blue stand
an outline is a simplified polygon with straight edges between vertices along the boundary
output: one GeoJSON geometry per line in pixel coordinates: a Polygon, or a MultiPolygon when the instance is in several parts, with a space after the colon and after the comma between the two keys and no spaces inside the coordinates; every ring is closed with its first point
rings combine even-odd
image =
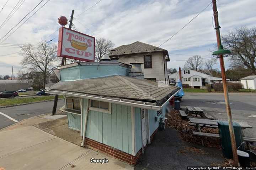
{"type": "MultiPolygon", "coordinates": [[[[181,88],[182,89],[182,88],[181,88]]],[[[175,92],[172,96],[169,97],[168,100],[162,106],[155,106],[155,105],[150,105],[146,104],[146,102],[140,102],[140,103],[135,103],[135,102],[128,102],[128,101],[123,101],[122,99],[111,99],[111,98],[106,98],[106,97],[96,97],[92,95],[82,95],[82,94],[75,94],[75,93],[70,93],[70,92],[60,92],[60,91],[54,91],[54,90],[46,90],[46,93],[54,94],[54,95],[66,95],[66,96],[72,96],[72,97],[79,97],[79,98],[86,98],[90,100],[98,100],[102,102],[111,102],[111,103],[116,103],[116,104],[123,104],[126,106],[134,106],[134,107],[139,107],[139,108],[144,108],[144,109],[150,109],[150,110],[155,110],[155,111],[160,111],[162,107],[171,100],[172,97],[174,97],[181,89],[175,92]],[[141,104],[143,103],[143,104],[141,104]]],[[[155,104],[155,103],[154,103],[155,104]]]]}

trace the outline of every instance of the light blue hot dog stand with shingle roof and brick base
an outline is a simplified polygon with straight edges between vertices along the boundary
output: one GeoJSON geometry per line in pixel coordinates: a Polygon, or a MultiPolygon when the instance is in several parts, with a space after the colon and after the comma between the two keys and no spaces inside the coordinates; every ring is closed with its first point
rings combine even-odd
{"type": "Polygon", "coordinates": [[[164,117],[169,100],[180,90],[145,80],[133,62],[78,62],[59,67],[60,82],[46,92],[63,95],[70,129],[87,145],[135,164],[164,117]]]}

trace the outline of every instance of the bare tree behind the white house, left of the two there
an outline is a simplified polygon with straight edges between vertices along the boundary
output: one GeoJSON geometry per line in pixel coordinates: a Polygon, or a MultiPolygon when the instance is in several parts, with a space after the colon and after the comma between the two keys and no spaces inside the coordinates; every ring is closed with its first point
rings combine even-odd
{"type": "Polygon", "coordinates": [[[201,56],[195,55],[186,61],[184,68],[191,70],[199,70],[203,67],[203,59],[201,56]]]}

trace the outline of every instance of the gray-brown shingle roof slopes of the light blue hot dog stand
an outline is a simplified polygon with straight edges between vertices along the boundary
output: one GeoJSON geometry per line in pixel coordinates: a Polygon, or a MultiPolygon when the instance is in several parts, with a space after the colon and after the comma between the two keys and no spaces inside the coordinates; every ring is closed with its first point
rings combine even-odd
{"type": "Polygon", "coordinates": [[[78,92],[82,94],[127,98],[139,101],[160,101],[179,87],[158,87],[157,82],[128,76],[114,75],[76,81],[60,81],[50,90],[78,92]]]}

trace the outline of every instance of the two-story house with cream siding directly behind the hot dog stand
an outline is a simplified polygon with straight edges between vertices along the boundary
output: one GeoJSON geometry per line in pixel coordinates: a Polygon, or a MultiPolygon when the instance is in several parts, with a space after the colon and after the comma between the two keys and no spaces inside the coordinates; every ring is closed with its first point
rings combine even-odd
{"type": "Polygon", "coordinates": [[[167,61],[170,61],[168,51],[143,42],[121,45],[112,49],[110,58],[117,57],[119,62],[132,63],[134,61],[144,63],[142,71],[145,79],[153,81],[168,81],[167,61]]]}

